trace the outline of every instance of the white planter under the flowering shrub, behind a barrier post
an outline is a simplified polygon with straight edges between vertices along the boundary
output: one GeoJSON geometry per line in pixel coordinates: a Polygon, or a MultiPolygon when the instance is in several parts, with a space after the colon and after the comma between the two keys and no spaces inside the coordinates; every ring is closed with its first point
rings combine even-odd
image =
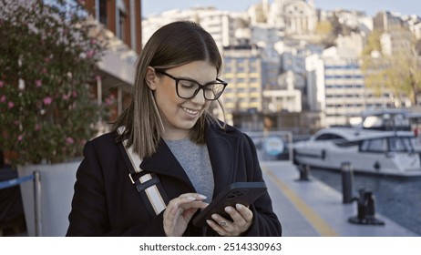
{"type": "MultiPolygon", "coordinates": [[[[81,161],[60,164],[26,165],[17,168],[19,177],[32,175],[39,170],[41,179],[41,228],[40,236],[63,237],[68,228],[68,214],[76,182],[77,167],[81,161]]],[[[36,235],[34,209],[34,182],[20,185],[24,204],[28,236],[36,235]]]]}

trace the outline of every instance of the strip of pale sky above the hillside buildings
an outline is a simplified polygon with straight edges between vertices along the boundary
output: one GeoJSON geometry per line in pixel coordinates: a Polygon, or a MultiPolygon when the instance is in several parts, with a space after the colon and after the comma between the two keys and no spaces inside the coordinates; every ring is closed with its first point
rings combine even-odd
{"type": "MultiPolygon", "coordinates": [[[[214,6],[218,10],[242,12],[260,0],[142,0],[142,15],[160,14],[172,9],[188,9],[194,6],[214,6]]],[[[273,0],[269,0],[272,3],[273,0]]],[[[344,8],[375,15],[379,11],[391,11],[401,15],[421,16],[419,0],[313,0],[316,8],[334,10],[344,8]]]]}

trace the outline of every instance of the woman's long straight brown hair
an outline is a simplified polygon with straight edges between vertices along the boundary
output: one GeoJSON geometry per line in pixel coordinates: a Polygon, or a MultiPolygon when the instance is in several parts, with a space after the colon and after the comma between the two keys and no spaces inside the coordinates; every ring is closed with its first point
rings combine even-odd
{"type": "MultiPolygon", "coordinates": [[[[222,59],[218,46],[208,32],[190,21],[160,27],[143,48],[136,66],[130,105],[114,123],[115,129],[125,127],[118,140],[128,139],[128,146],[132,146],[139,158],[154,154],[165,132],[153,92],[145,79],[148,66],[168,69],[200,60],[215,66],[218,76],[221,74],[222,59]]],[[[218,100],[218,104],[225,114],[221,101],[218,100]]],[[[193,142],[205,142],[205,128],[209,121],[219,123],[205,111],[190,130],[193,142]]]]}

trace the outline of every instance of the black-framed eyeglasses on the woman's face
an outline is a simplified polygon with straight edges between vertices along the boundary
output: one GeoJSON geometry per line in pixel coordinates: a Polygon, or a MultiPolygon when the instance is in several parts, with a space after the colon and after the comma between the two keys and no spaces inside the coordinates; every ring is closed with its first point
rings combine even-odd
{"type": "Polygon", "coordinates": [[[203,97],[205,97],[206,100],[213,101],[221,97],[223,90],[228,85],[228,83],[218,78],[216,79],[218,82],[208,82],[205,85],[201,85],[195,80],[174,77],[165,71],[158,69],[155,69],[155,71],[161,75],[169,76],[171,79],[175,80],[177,96],[183,99],[196,97],[200,89],[203,89],[203,97]]]}

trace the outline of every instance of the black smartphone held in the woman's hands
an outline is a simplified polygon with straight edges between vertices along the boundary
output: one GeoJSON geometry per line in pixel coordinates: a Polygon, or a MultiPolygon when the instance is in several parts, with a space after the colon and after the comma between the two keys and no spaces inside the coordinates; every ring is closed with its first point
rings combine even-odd
{"type": "Polygon", "coordinates": [[[225,212],[227,206],[235,208],[235,204],[244,206],[251,205],[259,199],[267,190],[264,182],[234,182],[223,189],[215,199],[212,199],[208,207],[200,211],[200,214],[193,219],[193,225],[202,227],[206,225],[206,219],[211,219],[211,215],[217,213],[225,219],[231,219],[225,212]]]}

